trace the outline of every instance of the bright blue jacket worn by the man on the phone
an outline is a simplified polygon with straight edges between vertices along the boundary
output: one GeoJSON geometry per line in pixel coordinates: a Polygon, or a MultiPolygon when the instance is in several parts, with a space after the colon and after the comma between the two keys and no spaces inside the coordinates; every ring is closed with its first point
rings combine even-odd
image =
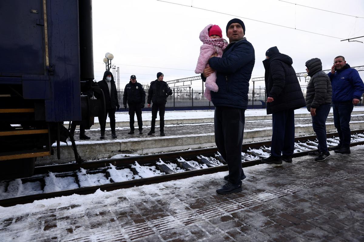
{"type": "Polygon", "coordinates": [[[332,85],[332,102],[350,102],[353,98],[360,100],[364,93],[364,83],[357,70],[345,64],[335,74],[329,72],[332,85]]]}

